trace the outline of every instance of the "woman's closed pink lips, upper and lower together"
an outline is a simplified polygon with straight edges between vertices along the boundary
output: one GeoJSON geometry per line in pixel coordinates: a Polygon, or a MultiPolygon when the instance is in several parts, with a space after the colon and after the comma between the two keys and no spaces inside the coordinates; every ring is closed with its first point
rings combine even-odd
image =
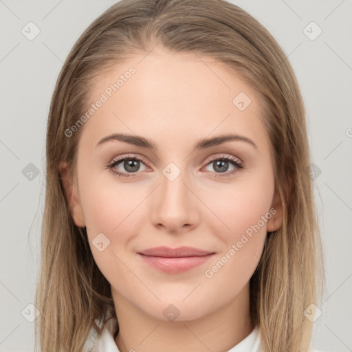
{"type": "Polygon", "coordinates": [[[206,263],[214,252],[193,247],[154,247],[137,254],[152,267],[169,274],[177,274],[206,263]]]}

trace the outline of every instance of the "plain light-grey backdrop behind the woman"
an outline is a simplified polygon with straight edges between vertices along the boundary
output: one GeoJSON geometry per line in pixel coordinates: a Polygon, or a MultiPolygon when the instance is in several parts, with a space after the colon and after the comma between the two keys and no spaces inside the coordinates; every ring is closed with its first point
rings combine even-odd
{"type": "MultiPolygon", "coordinates": [[[[54,83],[78,36],[114,2],[0,0],[0,351],[34,347],[34,322],[28,321],[34,308],[28,305],[40,262],[45,129],[54,83]],[[32,41],[21,32],[30,21],[40,29],[32,41]]],[[[352,1],[232,2],[270,30],[300,83],[327,273],[312,345],[352,351],[352,1]],[[311,21],[322,30],[314,40],[306,35],[318,34],[307,27],[311,21]]]]}

